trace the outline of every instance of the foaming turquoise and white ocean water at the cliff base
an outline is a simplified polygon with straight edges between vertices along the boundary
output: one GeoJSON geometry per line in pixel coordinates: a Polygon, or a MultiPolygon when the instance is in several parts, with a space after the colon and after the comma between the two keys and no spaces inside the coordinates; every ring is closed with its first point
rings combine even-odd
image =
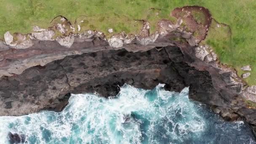
{"type": "Polygon", "coordinates": [[[181,93],[124,85],[116,97],[72,95],[62,112],[0,117],[0,144],[8,132],[26,144],[256,144],[243,122],[225,122],[181,93]]]}

